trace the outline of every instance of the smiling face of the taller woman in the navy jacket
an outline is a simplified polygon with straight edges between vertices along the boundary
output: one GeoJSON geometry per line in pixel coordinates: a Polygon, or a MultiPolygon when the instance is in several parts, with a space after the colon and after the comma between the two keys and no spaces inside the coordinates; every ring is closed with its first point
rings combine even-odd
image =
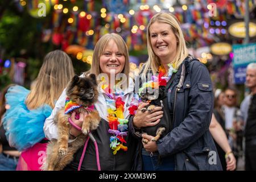
{"type": "Polygon", "coordinates": [[[155,22],[150,26],[150,42],[162,63],[170,63],[176,55],[177,39],[170,24],[155,22]]]}

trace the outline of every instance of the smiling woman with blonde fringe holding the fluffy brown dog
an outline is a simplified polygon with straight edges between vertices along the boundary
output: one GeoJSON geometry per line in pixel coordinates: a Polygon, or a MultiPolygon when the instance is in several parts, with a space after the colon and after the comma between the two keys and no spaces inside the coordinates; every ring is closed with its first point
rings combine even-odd
{"type": "MultiPolygon", "coordinates": [[[[100,114],[101,121],[97,129],[91,131],[98,148],[94,146],[93,140],[88,140],[85,151],[83,152],[84,148],[81,147],[74,155],[73,161],[64,170],[131,169],[137,142],[127,131],[128,107],[133,98],[134,89],[133,81],[129,78],[129,67],[129,53],[121,36],[117,34],[102,36],[94,48],[90,71],[81,75],[83,77],[88,73],[93,73],[101,78],[98,85],[98,101],[94,104],[95,109],[100,114]],[[121,82],[114,79],[118,73],[129,78],[121,81],[123,86],[120,86],[121,82]],[[110,84],[108,78],[110,78],[110,84]],[[82,156],[84,158],[81,158],[82,156]]],[[[44,123],[44,133],[50,140],[59,138],[53,119],[56,117],[56,113],[65,106],[66,96],[66,90],[64,90],[56,102],[52,114],[44,123]]],[[[84,117],[86,114],[80,113],[79,119],[76,119],[75,113],[73,113],[70,119],[76,126],[81,127],[81,121],[84,121],[84,117]]],[[[76,126],[71,126],[70,143],[82,134],[76,126]]]]}

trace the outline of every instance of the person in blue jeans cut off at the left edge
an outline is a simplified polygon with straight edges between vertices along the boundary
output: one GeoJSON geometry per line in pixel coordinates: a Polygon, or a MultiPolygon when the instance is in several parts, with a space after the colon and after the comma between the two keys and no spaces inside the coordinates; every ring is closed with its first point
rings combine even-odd
{"type": "Polygon", "coordinates": [[[20,156],[16,148],[9,146],[2,125],[2,116],[9,107],[5,104],[5,94],[10,86],[12,85],[6,86],[0,94],[0,171],[15,171],[20,156]]]}

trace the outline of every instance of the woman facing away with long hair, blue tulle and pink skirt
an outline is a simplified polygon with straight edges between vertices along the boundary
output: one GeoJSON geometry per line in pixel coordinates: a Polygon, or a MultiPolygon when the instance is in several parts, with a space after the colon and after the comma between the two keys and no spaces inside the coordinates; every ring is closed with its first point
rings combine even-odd
{"type": "Polygon", "coordinates": [[[44,121],[73,75],[70,57],[56,50],[44,57],[31,91],[19,85],[8,89],[5,97],[10,109],[6,110],[3,126],[10,146],[22,151],[17,170],[40,170],[48,142],[43,131],[44,121]]]}

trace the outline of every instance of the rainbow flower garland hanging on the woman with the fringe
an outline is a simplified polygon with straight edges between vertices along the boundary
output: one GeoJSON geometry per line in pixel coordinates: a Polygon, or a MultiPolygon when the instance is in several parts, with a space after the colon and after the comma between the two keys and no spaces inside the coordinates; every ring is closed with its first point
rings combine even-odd
{"type": "Polygon", "coordinates": [[[123,111],[125,110],[125,102],[123,102],[124,93],[111,92],[108,85],[103,84],[102,89],[109,97],[106,99],[108,110],[109,130],[108,133],[112,134],[110,137],[110,148],[113,154],[117,154],[118,150],[127,151],[127,147],[123,145],[126,143],[125,137],[128,133],[128,119],[125,119],[123,111]]]}

